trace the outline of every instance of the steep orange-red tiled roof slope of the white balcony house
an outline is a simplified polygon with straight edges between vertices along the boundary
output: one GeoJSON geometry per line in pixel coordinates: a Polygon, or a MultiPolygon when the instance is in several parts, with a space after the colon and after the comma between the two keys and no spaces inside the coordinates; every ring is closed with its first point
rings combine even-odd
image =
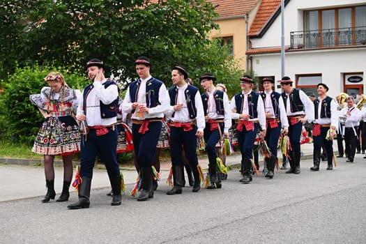
{"type": "Polygon", "coordinates": [[[262,0],[250,26],[248,36],[257,36],[280,5],[281,0],[262,0]]]}

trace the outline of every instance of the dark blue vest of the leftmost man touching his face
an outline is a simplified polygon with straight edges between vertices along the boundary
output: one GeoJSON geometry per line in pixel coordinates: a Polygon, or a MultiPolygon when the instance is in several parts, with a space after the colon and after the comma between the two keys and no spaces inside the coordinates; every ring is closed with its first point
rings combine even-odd
{"type": "MultiPolygon", "coordinates": [[[[103,84],[103,86],[105,87],[105,89],[107,89],[108,86],[110,85],[116,85],[116,82],[114,82],[112,79],[107,79],[107,82],[105,82],[103,84]]],[[[89,95],[91,89],[93,89],[93,84],[89,84],[87,86],[85,86],[84,88],[84,94],[83,94],[83,98],[84,98],[84,113],[86,114],[86,97],[89,95]]],[[[118,110],[118,105],[119,105],[119,97],[116,98],[116,100],[114,100],[111,104],[109,105],[105,105],[102,101],[100,101],[100,116],[102,119],[108,119],[108,118],[113,118],[117,116],[117,110],[118,110]]]]}

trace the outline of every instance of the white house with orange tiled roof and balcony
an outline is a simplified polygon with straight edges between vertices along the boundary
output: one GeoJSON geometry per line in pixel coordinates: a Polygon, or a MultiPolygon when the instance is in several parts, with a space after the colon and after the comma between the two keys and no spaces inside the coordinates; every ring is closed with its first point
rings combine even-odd
{"type": "MultiPolygon", "coordinates": [[[[281,79],[281,1],[262,0],[248,36],[247,58],[260,77],[281,79]],[[270,8],[272,6],[272,8],[270,8]],[[258,17],[258,18],[257,18],[258,17]]],[[[364,93],[366,2],[284,0],[284,75],[317,96],[320,82],[329,96],[364,93]]],[[[276,86],[281,91],[280,86],[276,86]]],[[[366,92],[365,92],[366,93],[366,92]]]]}

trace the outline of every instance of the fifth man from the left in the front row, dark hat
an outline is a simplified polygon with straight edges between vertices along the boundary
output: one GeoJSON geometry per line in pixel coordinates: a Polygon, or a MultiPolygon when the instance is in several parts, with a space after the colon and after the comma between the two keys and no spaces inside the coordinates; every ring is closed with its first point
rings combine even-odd
{"type": "Polygon", "coordinates": [[[250,75],[241,77],[242,92],[231,99],[231,114],[233,119],[238,120],[236,135],[241,149],[241,165],[244,184],[252,181],[253,145],[259,125],[262,128],[262,137],[266,136],[266,114],[261,96],[252,91],[254,84],[250,75]]]}

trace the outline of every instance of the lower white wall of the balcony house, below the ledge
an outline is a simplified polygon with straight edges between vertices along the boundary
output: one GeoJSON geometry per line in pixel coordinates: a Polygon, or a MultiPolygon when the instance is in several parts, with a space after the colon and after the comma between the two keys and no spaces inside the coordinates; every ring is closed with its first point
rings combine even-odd
{"type": "MultiPolygon", "coordinates": [[[[295,79],[295,75],[322,74],[325,84],[330,87],[329,96],[343,92],[343,73],[363,73],[366,78],[365,48],[328,49],[303,52],[287,52],[285,56],[285,75],[295,79]]],[[[275,75],[281,79],[281,54],[261,54],[253,57],[253,69],[259,76],[275,75]]],[[[294,84],[295,86],[295,84],[294,84]]],[[[365,82],[363,84],[364,93],[365,82]]],[[[276,91],[280,92],[281,89],[276,91]]]]}

